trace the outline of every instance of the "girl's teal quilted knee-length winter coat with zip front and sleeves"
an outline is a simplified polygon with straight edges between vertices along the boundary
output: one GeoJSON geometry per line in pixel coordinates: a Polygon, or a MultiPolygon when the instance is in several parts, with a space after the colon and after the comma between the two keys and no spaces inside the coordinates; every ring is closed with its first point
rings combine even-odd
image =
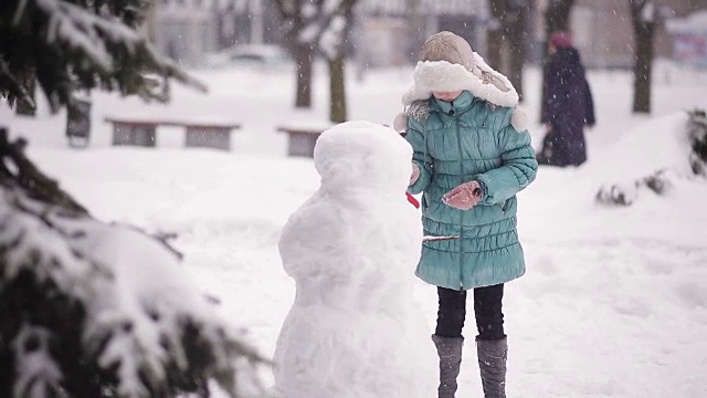
{"type": "Polygon", "coordinates": [[[409,188],[422,196],[425,241],[415,274],[442,287],[468,290],[525,273],[516,230],[516,193],[536,177],[538,164],[526,129],[510,124],[511,107],[492,105],[464,91],[452,103],[431,97],[408,111],[405,138],[420,177],[409,188]],[[442,202],[460,184],[477,180],[483,197],[469,210],[442,202]]]}

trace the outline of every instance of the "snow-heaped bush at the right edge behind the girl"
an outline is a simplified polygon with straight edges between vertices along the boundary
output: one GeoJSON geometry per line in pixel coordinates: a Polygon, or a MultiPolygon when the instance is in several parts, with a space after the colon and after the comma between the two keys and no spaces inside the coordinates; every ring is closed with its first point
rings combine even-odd
{"type": "Polygon", "coordinates": [[[632,132],[602,160],[612,176],[624,176],[602,186],[597,202],[630,206],[642,191],[665,195],[677,179],[707,176],[707,117],[704,109],[653,121],[632,132]]]}

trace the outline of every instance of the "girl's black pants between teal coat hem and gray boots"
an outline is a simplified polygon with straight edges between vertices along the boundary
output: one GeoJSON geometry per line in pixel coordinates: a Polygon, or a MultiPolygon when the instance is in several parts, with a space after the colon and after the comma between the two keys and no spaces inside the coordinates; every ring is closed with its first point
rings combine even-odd
{"type": "MultiPolygon", "coordinates": [[[[442,337],[461,337],[466,318],[466,291],[437,287],[440,310],[437,327],[434,332],[442,337]]],[[[504,334],[504,313],[502,301],[504,284],[474,289],[474,315],[479,339],[502,339],[504,334]]]]}

